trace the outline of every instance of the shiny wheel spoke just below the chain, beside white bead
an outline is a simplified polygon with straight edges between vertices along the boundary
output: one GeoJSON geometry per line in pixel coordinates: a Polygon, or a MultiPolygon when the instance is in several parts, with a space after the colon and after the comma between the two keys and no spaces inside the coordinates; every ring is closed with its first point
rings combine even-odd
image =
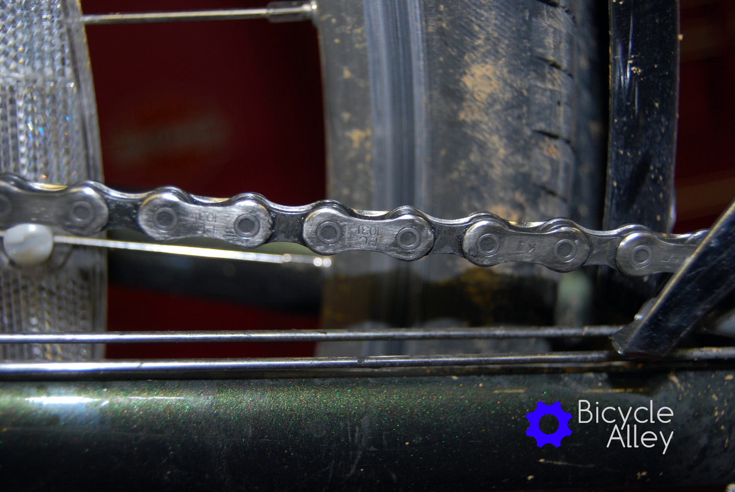
{"type": "MultiPolygon", "coordinates": [[[[1,234],[0,234],[1,235],[1,234]]],[[[329,267],[331,260],[311,254],[273,254],[233,251],[231,249],[200,248],[196,246],[177,246],[174,244],[138,243],[99,238],[77,238],[75,236],[54,236],[54,243],[91,248],[125,249],[127,251],[182,254],[221,260],[254,261],[259,263],[303,263],[318,267],[329,267]]]]}

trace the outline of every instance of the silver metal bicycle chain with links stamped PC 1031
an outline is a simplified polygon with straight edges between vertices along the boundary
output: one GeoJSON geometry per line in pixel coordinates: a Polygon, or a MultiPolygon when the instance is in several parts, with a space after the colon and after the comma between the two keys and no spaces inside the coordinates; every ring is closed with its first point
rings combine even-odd
{"type": "Polygon", "coordinates": [[[677,271],[707,233],[660,234],[641,225],[595,231],[566,218],[512,222],[492,213],[445,220],[415,207],[373,212],[333,200],[287,207],[257,193],[229,199],[173,187],[123,193],[100,182],[58,186],[0,175],[0,228],[21,223],[82,236],[137,229],[155,240],[204,237],[243,248],[282,241],[318,254],[366,250],[406,261],[456,254],[480,266],[520,261],[560,272],[606,265],[634,277],[677,271]]]}

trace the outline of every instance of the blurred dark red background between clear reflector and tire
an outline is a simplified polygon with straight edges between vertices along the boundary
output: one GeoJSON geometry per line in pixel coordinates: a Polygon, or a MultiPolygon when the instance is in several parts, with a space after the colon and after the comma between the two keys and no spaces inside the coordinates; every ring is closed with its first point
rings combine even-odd
{"type": "MultiPolygon", "coordinates": [[[[84,1],[84,13],[262,7],[263,1],[84,1]]],[[[325,196],[319,50],[309,22],[87,26],[107,184],[325,196]]],[[[276,267],[278,268],[278,267],[276,267]]],[[[108,329],[317,328],[318,317],[115,285],[108,329]]],[[[311,355],[313,343],[110,345],[107,357],[311,355]]]]}

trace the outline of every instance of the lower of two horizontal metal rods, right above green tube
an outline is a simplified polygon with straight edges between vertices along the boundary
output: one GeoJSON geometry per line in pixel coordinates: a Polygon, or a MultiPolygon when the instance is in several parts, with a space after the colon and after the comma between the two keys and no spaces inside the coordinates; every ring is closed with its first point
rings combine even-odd
{"type": "MultiPolygon", "coordinates": [[[[731,360],[735,347],[682,349],[669,360],[731,360]]],[[[612,351],[545,354],[379,355],[373,357],[273,357],[265,359],[102,360],[99,362],[7,362],[0,376],[179,371],[281,371],[304,369],[505,366],[517,364],[605,363],[625,360],[612,351]]]]}

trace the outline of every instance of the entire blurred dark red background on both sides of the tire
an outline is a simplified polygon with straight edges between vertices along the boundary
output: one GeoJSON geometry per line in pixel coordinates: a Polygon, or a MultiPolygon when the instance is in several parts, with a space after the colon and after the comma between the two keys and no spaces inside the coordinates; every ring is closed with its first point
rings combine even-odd
{"type": "MultiPolygon", "coordinates": [[[[265,1],[82,1],[85,13],[262,7],[265,1]]],[[[735,196],[735,2],[684,0],[676,232],[735,196]]],[[[126,190],[325,196],[317,32],[265,20],[88,26],[106,182],[126,190]]],[[[317,315],[110,283],[108,328],[317,328],[317,315]]],[[[312,343],[111,345],[111,358],[311,355],[312,343]]]]}

